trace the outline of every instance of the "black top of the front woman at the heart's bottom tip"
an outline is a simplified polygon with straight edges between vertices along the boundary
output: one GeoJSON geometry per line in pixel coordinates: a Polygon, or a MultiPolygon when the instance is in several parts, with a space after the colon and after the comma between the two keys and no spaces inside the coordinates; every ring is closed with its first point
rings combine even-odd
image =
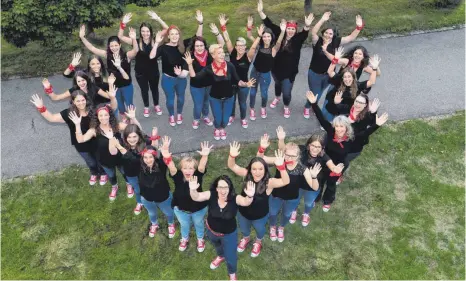
{"type": "Polygon", "coordinates": [[[238,211],[236,196],[232,196],[225,208],[220,209],[218,193],[214,190],[210,192],[208,205],[207,224],[210,229],[223,234],[233,233],[236,230],[236,212],[238,211]]]}

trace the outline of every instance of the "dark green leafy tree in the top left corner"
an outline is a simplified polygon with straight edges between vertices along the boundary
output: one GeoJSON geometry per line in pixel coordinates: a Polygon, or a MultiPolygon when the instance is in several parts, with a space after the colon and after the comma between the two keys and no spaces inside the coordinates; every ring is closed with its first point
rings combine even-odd
{"type": "Polygon", "coordinates": [[[157,6],[163,0],[2,0],[2,34],[17,47],[38,40],[59,47],[81,24],[110,26],[125,4],[157,6]]]}

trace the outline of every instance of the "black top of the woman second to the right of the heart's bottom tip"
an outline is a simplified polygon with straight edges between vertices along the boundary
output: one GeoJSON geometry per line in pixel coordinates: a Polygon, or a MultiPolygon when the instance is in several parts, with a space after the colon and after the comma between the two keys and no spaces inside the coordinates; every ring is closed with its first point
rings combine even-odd
{"type": "MultiPolygon", "coordinates": [[[[280,188],[274,188],[272,195],[284,200],[297,199],[299,197],[299,188],[306,182],[303,176],[304,169],[306,169],[306,167],[301,164],[301,162],[298,162],[293,170],[288,170],[288,168],[286,168],[290,177],[290,183],[280,188]]],[[[276,171],[275,178],[281,178],[280,171],[276,171]]]]}

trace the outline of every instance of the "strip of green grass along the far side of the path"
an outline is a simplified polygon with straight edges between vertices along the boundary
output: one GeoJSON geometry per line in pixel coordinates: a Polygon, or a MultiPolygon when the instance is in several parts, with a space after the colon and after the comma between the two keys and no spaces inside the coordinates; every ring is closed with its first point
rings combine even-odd
{"type": "MultiPolygon", "coordinates": [[[[464,24],[465,2],[459,0],[458,6],[436,8],[432,5],[440,0],[314,0],[313,11],[316,15],[314,23],[323,12],[331,10],[331,22],[342,34],[354,29],[354,18],[361,14],[366,27],[361,36],[371,37],[385,33],[405,33],[412,30],[423,30],[464,24]]],[[[451,0],[450,2],[455,2],[451,0]]],[[[265,0],[265,13],[274,21],[280,18],[298,19],[301,26],[304,9],[303,0],[282,1],[265,0]]],[[[150,21],[146,15],[149,8],[128,5],[126,12],[134,14],[130,26],[139,27],[142,21],[150,21]]],[[[167,0],[154,10],[168,23],[179,25],[184,34],[191,36],[196,29],[194,13],[201,9],[206,23],[218,22],[219,13],[230,17],[229,32],[232,38],[246,35],[246,17],[254,15],[256,25],[260,18],[257,14],[255,0],[167,0]]],[[[110,28],[96,30],[97,39],[103,44],[110,35],[116,35],[119,20],[110,28]]],[[[206,34],[210,33],[205,25],[206,34]]],[[[84,46],[78,38],[78,29],[70,41],[58,49],[42,47],[38,42],[29,43],[24,48],[15,48],[2,38],[2,78],[12,76],[48,76],[60,73],[71,62],[71,54],[83,51],[84,46]]],[[[209,42],[214,38],[209,34],[209,42]]],[[[86,61],[86,60],[83,60],[86,61]]],[[[85,62],[84,62],[85,63],[85,62]]]]}

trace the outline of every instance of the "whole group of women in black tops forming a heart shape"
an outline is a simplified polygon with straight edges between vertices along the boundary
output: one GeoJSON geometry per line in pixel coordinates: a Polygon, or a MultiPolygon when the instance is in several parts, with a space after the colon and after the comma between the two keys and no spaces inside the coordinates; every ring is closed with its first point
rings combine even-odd
{"type": "Polygon", "coordinates": [[[364,27],[360,16],[356,17],[355,30],[340,38],[332,27],[324,28],[321,35],[317,34],[329,20],[330,12],[325,13],[312,29],[313,15],[305,17],[305,26],[300,32],[297,32],[298,24],[293,20],[283,20],[280,25],[272,23],[263,12],[261,0],[258,12],[264,24],[257,28],[258,37],[254,38],[253,20],[248,18],[248,38],[253,41],[249,50],[246,39],[242,37],[232,43],[226,28],[228,19],[223,14],[219,16],[221,33],[214,24],[210,25],[217,38],[217,44],[210,46],[202,37],[203,16],[200,11],[196,12],[197,32],[186,40],[181,38],[178,27],[168,26],[152,11],[148,12],[149,16],[163,27],[155,38],[152,27],[147,23],[141,24],[139,39],[134,29],[130,29],[129,36],[125,37],[124,29],[131,21],[131,14],[127,14],[120,24],[118,36],[108,39],[106,50],[98,49],[87,41],[82,27],[79,36],[94,53],[89,57],[87,68],[79,69],[81,54],[74,54],[64,71],[66,77],[73,78],[73,86],[62,94],[56,94],[50,82],[43,80],[45,94],[52,100],[69,98],[69,108],[54,114],[47,110],[39,95],[33,95],[31,99],[47,121],[68,125],[71,143],[89,167],[90,185],[95,185],[97,180],[100,185],[110,181],[109,199],[114,201],[118,191],[116,170],[119,170],[126,182],[127,196],[136,195],[134,213],[140,214],[143,207],[148,212],[150,237],[154,237],[159,229],[157,209],[166,216],[169,238],[176,233],[175,217],[180,223],[180,251],[186,250],[190,227],[194,224],[197,251],[204,251],[204,237],[207,235],[217,252],[210,267],[215,269],[226,261],[231,280],[236,280],[237,252],[243,252],[252,240],[251,227],[256,231],[251,256],[257,257],[261,253],[267,222],[270,239],[283,242],[285,226],[297,220],[301,198],[304,198],[303,226],[309,225],[310,211],[316,201],[322,199],[323,211],[328,212],[342,174],[361,154],[369,136],[388,119],[386,113],[380,117],[377,115],[380,102],[378,99],[369,101],[367,95],[380,75],[380,59],[377,55],[369,58],[362,46],[353,47],[346,53],[340,47],[353,41],[364,27]],[[158,92],[161,80],[169,123],[171,126],[181,124],[186,77],[189,75],[194,101],[193,128],[197,129],[202,119],[207,126],[214,125],[216,140],[225,140],[225,128],[235,118],[236,100],[241,125],[248,127],[248,96],[249,118],[255,120],[258,86],[261,88],[261,117],[266,118],[271,77],[275,81],[275,98],[270,107],[276,108],[283,94],[284,117],[290,117],[291,92],[298,73],[301,47],[309,30],[313,55],[308,71],[310,91],[306,94],[304,117],[309,118],[312,109],[326,134],[314,133],[301,145],[285,143],[286,133],[278,127],[278,150],[272,156],[265,155],[270,145],[269,136],[265,134],[260,140],[257,155],[247,167],[236,164],[240,144],[231,143],[227,166],[244,179],[241,193],[236,194],[231,179],[225,175],[217,177],[208,189],[203,188],[212,148],[208,142],[201,143],[199,160],[186,156],[177,166],[170,153],[171,139],[167,136],[161,138],[156,127],[149,135],[143,132],[133,105],[132,59],[136,60],[136,80],[143,96],[145,117],[150,114],[149,89],[155,113],[162,114],[158,92]],[[124,52],[121,41],[131,44],[132,49],[124,52]],[[227,47],[230,61],[225,60],[223,45],[227,47]],[[162,74],[158,70],[159,57],[162,74]],[[340,66],[338,71],[337,66],[340,66]],[[363,72],[369,75],[366,81],[360,81],[363,72]],[[328,93],[321,109],[317,103],[325,92],[328,93]],[[213,122],[208,116],[209,105],[213,122]],[[270,165],[276,166],[275,174],[272,174],[270,165]],[[169,178],[175,185],[173,193],[169,178]],[[242,234],[239,242],[237,219],[242,234]]]}

